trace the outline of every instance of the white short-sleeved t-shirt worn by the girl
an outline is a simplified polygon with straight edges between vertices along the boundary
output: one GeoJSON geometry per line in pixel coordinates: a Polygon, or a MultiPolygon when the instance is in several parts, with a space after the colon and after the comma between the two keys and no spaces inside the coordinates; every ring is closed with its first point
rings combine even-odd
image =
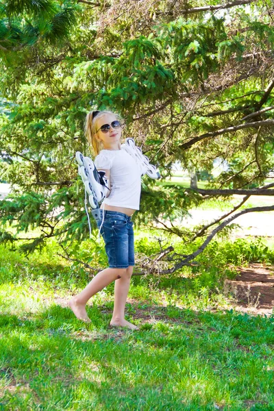
{"type": "Polygon", "coordinates": [[[142,171],[134,158],[123,149],[101,150],[95,158],[95,166],[97,170],[110,170],[111,192],[103,203],[139,210],[142,171]]]}

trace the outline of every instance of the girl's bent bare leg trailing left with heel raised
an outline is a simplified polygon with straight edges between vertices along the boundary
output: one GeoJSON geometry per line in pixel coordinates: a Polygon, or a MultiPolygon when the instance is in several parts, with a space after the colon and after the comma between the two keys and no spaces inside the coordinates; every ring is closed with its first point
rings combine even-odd
{"type": "Polygon", "coordinates": [[[84,290],[75,295],[75,297],[69,301],[69,307],[73,310],[75,316],[77,316],[77,319],[90,323],[90,319],[88,318],[88,314],[86,312],[86,303],[90,297],[95,295],[98,291],[103,290],[103,288],[108,286],[108,284],[113,282],[115,279],[124,278],[126,270],[127,269],[105,269],[95,275],[86,288],[84,288],[84,290]]]}

